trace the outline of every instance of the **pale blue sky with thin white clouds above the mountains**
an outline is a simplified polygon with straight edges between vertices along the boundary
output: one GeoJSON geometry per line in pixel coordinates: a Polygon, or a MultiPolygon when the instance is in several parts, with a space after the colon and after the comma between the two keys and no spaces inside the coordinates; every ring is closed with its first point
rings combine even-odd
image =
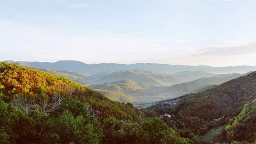
{"type": "Polygon", "coordinates": [[[0,0],[0,61],[256,66],[256,0],[0,0]]]}

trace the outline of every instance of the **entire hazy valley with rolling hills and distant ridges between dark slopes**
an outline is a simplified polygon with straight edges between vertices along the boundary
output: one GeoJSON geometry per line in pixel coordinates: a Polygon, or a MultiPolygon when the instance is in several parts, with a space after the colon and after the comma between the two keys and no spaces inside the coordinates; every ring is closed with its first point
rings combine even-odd
{"type": "Polygon", "coordinates": [[[129,102],[143,108],[144,105],[149,106],[160,100],[201,92],[256,70],[254,66],[212,67],[150,63],[88,65],[81,61],[6,62],[64,76],[101,92],[110,100],[129,102]]]}

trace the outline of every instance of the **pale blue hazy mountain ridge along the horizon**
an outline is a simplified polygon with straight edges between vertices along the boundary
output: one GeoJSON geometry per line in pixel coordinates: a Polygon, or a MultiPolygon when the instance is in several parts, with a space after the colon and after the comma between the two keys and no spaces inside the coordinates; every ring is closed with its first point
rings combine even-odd
{"type": "Polygon", "coordinates": [[[33,66],[41,68],[50,68],[53,70],[69,70],[73,72],[81,72],[84,74],[97,74],[103,71],[114,72],[118,70],[144,69],[159,73],[176,73],[181,71],[204,71],[208,73],[246,73],[256,70],[256,66],[226,66],[212,67],[207,65],[168,65],[155,63],[136,63],[136,64],[86,64],[81,61],[57,61],[57,62],[38,62],[38,61],[5,61],[16,63],[22,66],[33,66]]]}

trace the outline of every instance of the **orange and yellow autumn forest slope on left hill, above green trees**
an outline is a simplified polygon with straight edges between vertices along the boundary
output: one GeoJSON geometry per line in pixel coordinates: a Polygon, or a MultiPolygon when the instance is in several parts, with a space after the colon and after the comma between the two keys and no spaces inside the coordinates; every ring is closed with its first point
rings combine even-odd
{"type": "Polygon", "coordinates": [[[35,99],[40,97],[49,99],[56,95],[69,96],[87,102],[93,109],[100,110],[102,120],[110,116],[128,118],[131,121],[139,120],[136,109],[111,101],[102,94],[64,77],[2,62],[0,74],[0,92],[4,94],[5,102],[10,102],[15,96],[35,99]]]}

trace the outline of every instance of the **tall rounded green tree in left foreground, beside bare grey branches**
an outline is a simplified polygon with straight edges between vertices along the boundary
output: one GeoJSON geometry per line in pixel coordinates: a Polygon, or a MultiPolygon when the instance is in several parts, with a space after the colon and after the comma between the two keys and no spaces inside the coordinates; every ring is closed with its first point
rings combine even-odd
{"type": "Polygon", "coordinates": [[[86,104],[70,98],[49,114],[43,123],[42,144],[99,144],[101,129],[86,104]]]}

